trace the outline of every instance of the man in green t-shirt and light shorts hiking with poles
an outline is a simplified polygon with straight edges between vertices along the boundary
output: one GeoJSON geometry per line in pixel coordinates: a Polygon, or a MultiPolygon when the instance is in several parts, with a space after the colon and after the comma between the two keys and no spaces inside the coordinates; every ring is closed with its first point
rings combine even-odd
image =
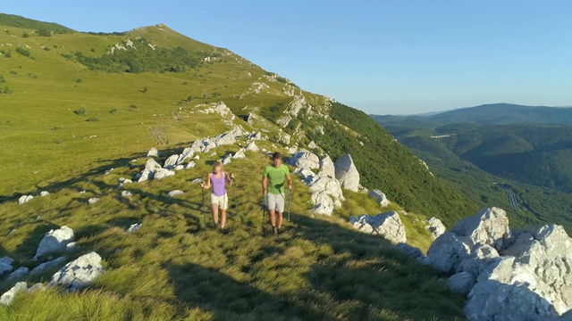
{"type": "Polygon", "coordinates": [[[282,164],[282,154],[274,152],[272,155],[272,165],[265,167],[262,174],[262,193],[264,194],[266,203],[268,204],[268,212],[270,214],[270,224],[272,224],[272,232],[274,235],[280,234],[282,228],[282,213],[284,212],[284,181],[288,180],[288,190],[292,189],[292,178],[290,170],[282,164]],[[275,213],[278,212],[276,219],[275,213]]]}

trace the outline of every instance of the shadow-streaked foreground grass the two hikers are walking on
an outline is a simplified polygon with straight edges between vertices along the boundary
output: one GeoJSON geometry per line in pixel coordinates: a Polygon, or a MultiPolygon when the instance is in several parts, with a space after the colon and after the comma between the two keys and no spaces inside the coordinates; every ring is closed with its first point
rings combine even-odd
{"type": "MultiPolygon", "coordinates": [[[[229,189],[230,233],[205,228],[201,190],[189,180],[205,177],[214,159],[237,149],[223,146],[215,156],[202,155],[195,169],[178,171],[174,177],[125,185],[133,194],[130,198],[120,196],[117,179],[133,177],[143,159],[134,168],[118,167],[107,175],[98,170],[21,206],[2,204],[0,256],[10,255],[18,266],[34,268],[38,263],[30,259],[40,238],[51,228],[67,225],[76,231],[79,245],[66,254],[68,259],[97,251],[106,271],[85,292],[50,289],[20,295],[10,307],[0,307],[0,318],[463,318],[464,299],[447,290],[439,273],[396,251],[383,238],[355,231],[347,223],[350,209],[339,209],[332,218],[310,218],[310,191],[298,178],[284,233],[263,235],[257,172],[269,159],[260,152],[247,152],[248,159],[225,166],[236,173],[237,182],[229,189]],[[167,193],[174,189],[185,193],[169,198],[167,193]],[[101,201],[89,205],[89,197],[101,201]],[[136,222],[143,223],[138,232],[124,232],[136,222]]],[[[346,195],[345,204],[360,203],[360,210],[371,214],[380,211],[379,204],[363,194],[346,195]]],[[[211,226],[212,217],[205,217],[206,226],[211,226]]],[[[10,285],[1,284],[1,289],[10,285]]]]}

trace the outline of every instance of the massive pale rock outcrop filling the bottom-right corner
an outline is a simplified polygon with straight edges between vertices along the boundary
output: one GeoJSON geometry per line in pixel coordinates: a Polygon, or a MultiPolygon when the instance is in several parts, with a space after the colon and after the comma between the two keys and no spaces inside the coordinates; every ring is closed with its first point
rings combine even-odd
{"type": "Polygon", "coordinates": [[[504,210],[486,209],[439,236],[425,262],[453,275],[469,320],[541,320],[572,309],[572,239],[562,226],[513,233],[504,210]]]}

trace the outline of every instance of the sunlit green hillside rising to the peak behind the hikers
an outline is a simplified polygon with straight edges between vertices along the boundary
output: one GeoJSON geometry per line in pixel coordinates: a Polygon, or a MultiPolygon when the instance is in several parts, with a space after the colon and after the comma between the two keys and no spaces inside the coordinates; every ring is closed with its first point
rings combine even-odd
{"type": "Polygon", "coordinates": [[[32,29],[7,30],[0,34],[0,161],[6,164],[0,169],[0,201],[112,166],[155,145],[181,148],[241,126],[289,146],[307,147],[314,139],[314,152],[331,152],[334,161],[350,152],[367,188],[380,188],[408,210],[438,216],[449,226],[477,210],[430,177],[363,112],[164,25],[51,37],[13,37],[32,29]],[[216,102],[238,118],[224,124],[196,112],[216,102]],[[296,103],[302,104],[297,113],[296,103]],[[327,139],[337,138],[328,141],[324,129],[327,139]],[[282,140],[285,134],[290,141],[282,140]]]}

